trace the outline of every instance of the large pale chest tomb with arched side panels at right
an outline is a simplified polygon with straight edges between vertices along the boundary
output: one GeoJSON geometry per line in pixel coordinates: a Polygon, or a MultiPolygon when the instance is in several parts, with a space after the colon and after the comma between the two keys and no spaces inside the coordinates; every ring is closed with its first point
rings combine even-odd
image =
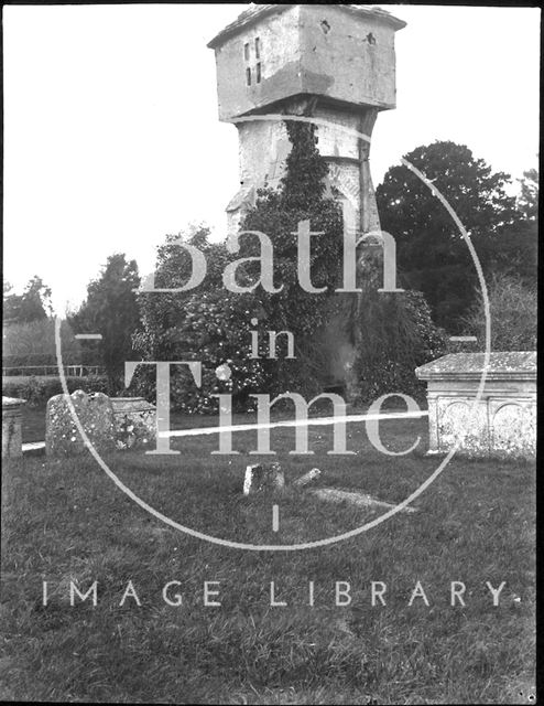
{"type": "Polygon", "coordinates": [[[532,458],[536,448],[536,353],[454,353],[416,368],[427,383],[429,453],[459,442],[469,457],[532,458]]]}

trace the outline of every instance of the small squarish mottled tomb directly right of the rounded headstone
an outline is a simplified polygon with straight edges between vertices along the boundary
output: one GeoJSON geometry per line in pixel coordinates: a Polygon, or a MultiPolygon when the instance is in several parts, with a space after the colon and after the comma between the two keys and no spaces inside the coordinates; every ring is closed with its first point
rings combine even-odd
{"type": "Polygon", "coordinates": [[[156,408],[143,397],[112,397],[118,449],[153,448],[156,408]]]}

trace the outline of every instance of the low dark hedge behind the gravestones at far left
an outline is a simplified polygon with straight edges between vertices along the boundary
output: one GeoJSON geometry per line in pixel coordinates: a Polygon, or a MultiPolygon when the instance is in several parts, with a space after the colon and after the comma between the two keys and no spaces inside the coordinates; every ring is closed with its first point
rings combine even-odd
{"type": "MultiPolygon", "coordinates": [[[[66,386],[70,394],[76,389],[83,389],[86,393],[106,393],[107,381],[100,375],[66,377],[66,386]]],[[[30,407],[42,407],[50,397],[61,395],[63,392],[61,378],[54,375],[2,379],[2,394],[7,397],[21,397],[30,407]]]]}

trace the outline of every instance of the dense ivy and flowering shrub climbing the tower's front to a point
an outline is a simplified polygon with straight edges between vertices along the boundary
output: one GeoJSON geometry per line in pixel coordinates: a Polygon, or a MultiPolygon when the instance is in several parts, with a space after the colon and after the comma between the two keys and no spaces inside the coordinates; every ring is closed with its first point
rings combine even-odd
{"type": "MultiPolygon", "coordinates": [[[[255,236],[240,235],[240,249],[232,255],[225,244],[210,244],[207,228],[200,227],[185,239],[206,256],[208,271],[205,281],[189,292],[172,295],[141,295],[142,330],[134,343],[144,359],[187,360],[195,355],[203,363],[203,385],[199,391],[182,370],[171,373],[172,402],[176,409],[209,413],[217,407],[210,393],[231,392],[239,409],[254,404],[251,394],[273,395],[286,391],[304,394],[320,388],[320,381],[312,373],[308,357],[313,347],[311,336],[328,315],[324,293],[311,295],[298,284],[297,226],[311,221],[312,282],[314,287],[337,284],[342,243],[342,222],[339,204],[324,197],[324,178],[328,168],[316,149],[315,129],[307,124],[286,121],[292,141],[286,173],[278,190],[263,189],[255,206],[247,214],[241,231],[259,231],[268,235],[274,247],[274,286],[283,286],[279,293],[261,287],[244,293],[225,289],[222,272],[229,263],[259,257],[255,236]],[[257,319],[254,327],[252,320],[257,319]],[[251,359],[251,330],[260,332],[260,359],[251,359]],[[278,357],[268,360],[265,332],[290,331],[295,341],[295,360],[285,360],[285,340],[279,339],[278,357]],[[231,381],[221,382],[215,368],[228,362],[231,381]]],[[[176,287],[189,275],[188,255],[175,246],[168,236],[160,248],[155,272],[156,287],[176,287]]],[[[250,288],[260,278],[258,261],[237,268],[239,286],[250,288]]],[[[152,383],[144,371],[140,373],[143,392],[151,393],[152,383]]]]}

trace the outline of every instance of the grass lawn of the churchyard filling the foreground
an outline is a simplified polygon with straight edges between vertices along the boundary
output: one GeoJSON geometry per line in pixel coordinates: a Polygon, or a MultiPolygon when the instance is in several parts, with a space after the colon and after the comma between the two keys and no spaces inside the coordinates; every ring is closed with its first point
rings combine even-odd
{"type": "MultiPolygon", "coordinates": [[[[202,421],[202,420],[200,420],[202,421]]],[[[392,450],[426,438],[426,420],[390,420],[392,450]]],[[[353,456],[327,456],[328,427],[309,428],[315,456],[293,456],[294,430],[271,432],[287,481],[317,466],[322,485],[395,502],[436,468],[418,448],[385,457],[350,424],[353,456]]],[[[215,437],[172,441],[179,456],[119,452],[111,469],[145,502],[192,528],[237,542],[293,544],[355,528],[373,515],[304,492],[243,498],[257,432],[238,456],[215,437]],[[272,532],[272,504],[280,531],[272,532]]],[[[266,457],[266,461],[274,457],[266,457]]],[[[167,527],[116,488],[91,458],[4,464],[2,698],[178,704],[530,703],[534,685],[534,467],[454,459],[399,514],[349,541],[303,552],[241,552],[167,527]],[[42,581],[48,605],[42,605],[42,581]],[[98,601],[69,605],[69,581],[98,601]],[[128,598],[132,580],[141,606],[128,598]],[[177,580],[165,603],[162,590],[177,580]],[[204,606],[204,582],[219,581],[204,606]],[[270,584],[275,599],[271,606],[270,584]],[[314,606],[308,605],[314,581],[314,606]],[[335,584],[352,601],[335,605],[335,584]],[[371,606],[370,582],[387,585],[371,606]],[[415,598],[416,581],[429,606],[415,598]],[[465,606],[450,582],[466,585],[465,606]],[[486,581],[505,581],[493,607],[486,581]],[[342,585],[340,588],[346,588],[342,585]]]]}

